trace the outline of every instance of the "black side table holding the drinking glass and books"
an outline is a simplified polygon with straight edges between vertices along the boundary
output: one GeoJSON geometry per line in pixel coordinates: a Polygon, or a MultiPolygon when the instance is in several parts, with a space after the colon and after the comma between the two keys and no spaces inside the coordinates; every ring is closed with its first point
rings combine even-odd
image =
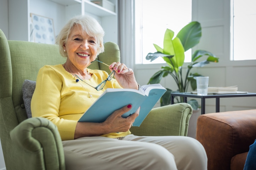
{"type": "Polygon", "coordinates": [[[171,93],[171,104],[174,103],[174,97],[181,96],[184,98],[184,102],[187,103],[187,97],[200,98],[201,99],[201,114],[205,114],[205,99],[216,99],[216,112],[220,112],[220,98],[223,97],[250,97],[256,96],[256,93],[242,93],[242,94],[208,94],[206,96],[199,96],[190,92],[186,93],[171,93]]]}

